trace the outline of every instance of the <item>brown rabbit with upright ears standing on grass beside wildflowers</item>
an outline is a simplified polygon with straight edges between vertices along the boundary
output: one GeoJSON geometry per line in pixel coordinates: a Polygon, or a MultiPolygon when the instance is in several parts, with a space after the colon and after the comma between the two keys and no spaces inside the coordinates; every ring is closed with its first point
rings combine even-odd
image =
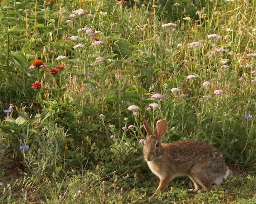
{"type": "Polygon", "coordinates": [[[154,194],[163,192],[166,185],[175,177],[188,176],[195,185],[196,193],[202,187],[206,192],[212,184],[220,184],[230,171],[226,167],[223,154],[215,147],[199,141],[179,141],[161,143],[161,137],[167,129],[167,121],[156,125],[155,134],[143,117],[144,127],[148,133],[144,141],[143,154],[150,170],[159,177],[159,186],[154,194]]]}

